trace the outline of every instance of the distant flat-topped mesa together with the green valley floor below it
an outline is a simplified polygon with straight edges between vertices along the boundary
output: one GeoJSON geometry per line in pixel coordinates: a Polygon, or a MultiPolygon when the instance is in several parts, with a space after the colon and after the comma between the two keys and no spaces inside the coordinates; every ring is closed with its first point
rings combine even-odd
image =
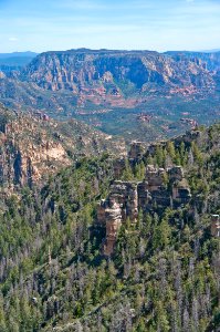
{"type": "Polygon", "coordinates": [[[218,52],[45,52],[21,71],[0,73],[0,102],[149,142],[219,117],[219,63],[218,52]]]}

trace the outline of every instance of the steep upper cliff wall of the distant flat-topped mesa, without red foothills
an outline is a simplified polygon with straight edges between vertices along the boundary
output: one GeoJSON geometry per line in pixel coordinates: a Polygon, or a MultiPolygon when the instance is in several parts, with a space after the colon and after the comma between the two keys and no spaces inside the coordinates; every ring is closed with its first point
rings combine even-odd
{"type": "Polygon", "coordinates": [[[122,80],[142,90],[148,83],[198,87],[212,85],[213,80],[205,63],[189,56],[172,58],[149,51],[82,49],[42,53],[27,66],[22,76],[44,89],[77,93],[88,85],[97,89],[99,82],[111,83],[112,86],[105,87],[105,94],[121,95],[114,82],[122,80]]]}

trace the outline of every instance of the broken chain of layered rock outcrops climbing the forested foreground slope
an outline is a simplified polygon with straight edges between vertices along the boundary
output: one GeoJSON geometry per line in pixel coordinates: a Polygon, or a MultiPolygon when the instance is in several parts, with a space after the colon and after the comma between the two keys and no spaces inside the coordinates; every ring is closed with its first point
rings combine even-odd
{"type": "MultiPolygon", "coordinates": [[[[174,146],[197,142],[198,146],[208,142],[207,133],[198,129],[189,131],[182,136],[172,139],[174,146]]],[[[140,142],[133,142],[128,152],[128,160],[132,167],[140,163],[147,155],[154,155],[157,147],[165,147],[167,142],[158,142],[147,147],[140,142]]],[[[126,168],[126,158],[115,160],[114,175],[119,178],[126,168]]],[[[191,200],[191,191],[182,166],[167,166],[166,168],[154,165],[145,166],[145,178],[142,181],[114,179],[109,187],[107,198],[102,199],[97,206],[97,227],[105,229],[103,239],[103,255],[112,256],[118,231],[122,225],[129,220],[135,224],[140,210],[151,212],[155,208],[164,210],[168,207],[184,207],[191,200]]],[[[219,217],[218,217],[219,218],[219,217]]],[[[219,229],[219,219],[213,220],[213,234],[219,229]]]]}

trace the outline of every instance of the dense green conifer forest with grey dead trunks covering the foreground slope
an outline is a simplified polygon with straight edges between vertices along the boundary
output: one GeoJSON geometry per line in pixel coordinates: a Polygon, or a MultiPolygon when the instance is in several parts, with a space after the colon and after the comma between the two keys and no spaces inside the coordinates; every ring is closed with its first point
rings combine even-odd
{"type": "MultiPolygon", "coordinates": [[[[96,207],[114,179],[112,155],[78,159],[43,187],[0,204],[0,331],[219,331],[220,125],[125,160],[119,179],[147,165],[181,165],[187,205],[138,211],[104,257],[96,207]]],[[[165,178],[166,184],[166,178],[165,178]]]]}

